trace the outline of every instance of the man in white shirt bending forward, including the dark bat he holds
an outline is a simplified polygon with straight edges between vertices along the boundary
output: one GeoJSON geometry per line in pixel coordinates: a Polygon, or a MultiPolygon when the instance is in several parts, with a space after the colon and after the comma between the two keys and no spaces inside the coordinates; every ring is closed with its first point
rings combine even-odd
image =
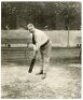
{"type": "Polygon", "coordinates": [[[33,43],[30,44],[29,47],[32,47],[35,52],[28,72],[29,73],[32,72],[33,66],[36,61],[37,52],[40,51],[42,66],[38,74],[41,74],[42,79],[44,79],[46,77],[46,71],[50,60],[51,41],[43,31],[36,29],[33,24],[28,24],[27,28],[29,32],[32,34],[32,43],[33,43]]]}

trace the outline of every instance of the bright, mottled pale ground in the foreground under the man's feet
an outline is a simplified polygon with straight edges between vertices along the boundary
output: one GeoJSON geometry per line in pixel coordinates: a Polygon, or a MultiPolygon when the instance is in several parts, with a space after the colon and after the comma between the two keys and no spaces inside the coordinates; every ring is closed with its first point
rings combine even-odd
{"type": "Polygon", "coordinates": [[[28,73],[27,65],[2,65],[2,98],[81,98],[80,64],[50,65],[47,78],[44,80],[41,79],[41,75],[36,75],[38,71],[38,65],[31,74],[28,73]]]}

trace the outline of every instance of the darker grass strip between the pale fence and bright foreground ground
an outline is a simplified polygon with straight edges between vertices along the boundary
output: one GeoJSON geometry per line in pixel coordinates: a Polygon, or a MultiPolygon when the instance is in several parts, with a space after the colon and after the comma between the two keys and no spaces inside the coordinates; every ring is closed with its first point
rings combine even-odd
{"type": "MultiPolygon", "coordinates": [[[[30,62],[32,59],[32,51],[26,47],[2,47],[1,48],[1,59],[2,62],[22,62],[26,64],[26,62],[30,62]]],[[[40,53],[37,59],[40,58],[40,53]]],[[[80,62],[80,48],[72,47],[72,48],[52,48],[51,52],[51,61],[53,62],[63,62],[71,61],[71,62],[80,62]]]]}

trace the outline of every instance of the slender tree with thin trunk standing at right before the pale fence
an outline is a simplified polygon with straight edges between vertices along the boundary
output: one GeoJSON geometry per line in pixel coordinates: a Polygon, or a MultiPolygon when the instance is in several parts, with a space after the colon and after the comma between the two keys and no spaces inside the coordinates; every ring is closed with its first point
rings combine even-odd
{"type": "Polygon", "coordinates": [[[78,12],[76,10],[76,5],[75,3],[66,3],[64,6],[64,9],[61,12],[62,18],[64,19],[65,23],[65,29],[68,30],[68,41],[67,41],[67,46],[69,47],[69,38],[70,38],[70,27],[76,20],[78,16],[78,12]]]}

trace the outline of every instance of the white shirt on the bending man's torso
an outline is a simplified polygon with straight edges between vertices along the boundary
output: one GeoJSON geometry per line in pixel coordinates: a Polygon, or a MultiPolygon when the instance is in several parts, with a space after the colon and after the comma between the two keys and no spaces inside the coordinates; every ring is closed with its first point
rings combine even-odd
{"type": "Polygon", "coordinates": [[[49,38],[48,36],[41,30],[35,29],[35,32],[33,33],[36,41],[36,47],[40,48],[44,43],[46,43],[49,38]]]}

